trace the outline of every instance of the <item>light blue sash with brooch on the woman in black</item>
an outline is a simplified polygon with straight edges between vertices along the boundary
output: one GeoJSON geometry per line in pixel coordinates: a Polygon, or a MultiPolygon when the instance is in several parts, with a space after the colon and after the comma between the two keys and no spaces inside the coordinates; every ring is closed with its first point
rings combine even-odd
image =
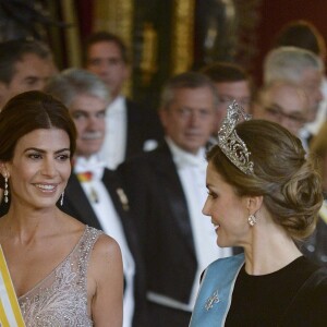
{"type": "Polygon", "coordinates": [[[244,254],[211,263],[205,270],[190,327],[221,327],[231,304],[231,296],[244,254]]]}

